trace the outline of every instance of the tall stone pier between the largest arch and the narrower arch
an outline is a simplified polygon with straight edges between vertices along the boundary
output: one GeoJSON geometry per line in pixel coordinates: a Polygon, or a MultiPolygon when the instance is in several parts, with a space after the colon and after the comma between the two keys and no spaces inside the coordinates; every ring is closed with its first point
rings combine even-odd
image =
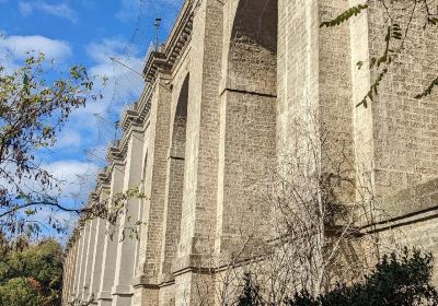
{"type": "Polygon", "coordinates": [[[193,17],[181,239],[173,268],[175,305],[195,305],[196,295],[208,305],[212,302],[196,286],[196,270],[211,264],[216,235],[222,17],[222,3],[215,0],[199,2],[193,17]]]}

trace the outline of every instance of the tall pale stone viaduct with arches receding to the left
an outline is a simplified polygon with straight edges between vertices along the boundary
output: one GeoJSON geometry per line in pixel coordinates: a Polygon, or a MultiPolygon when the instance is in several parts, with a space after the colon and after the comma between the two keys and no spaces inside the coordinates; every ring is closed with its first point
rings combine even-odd
{"type": "MultiPolygon", "coordinates": [[[[145,91],[124,111],[123,138],[91,196],[140,186],[145,199],[129,199],[119,220],[125,227],[141,221],[139,239],[120,232],[112,239],[105,220],[81,222],[66,254],[64,305],[198,305],[194,284],[211,268],[204,259],[239,242],[242,213],[251,217],[245,203],[263,205],[257,190],[268,164],[290,153],[296,118],[309,105],[345,145],[354,177],[370,177],[387,221],[403,228],[406,244],[438,257],[438,97],[414,98],[438,66],[406,60],[374,103],[355,107],[376,76],[356,62],[381,51],[383,17],[371,5],[351,23],[320,28],[349,2],[185,2],[166,43],[148,57],[145,91]]],[[[414,35],[414,44],[437,63],[438,32],[428,35],[414,35]]],[[[203,305],[215,305],[204,294],[203,305]]]]}

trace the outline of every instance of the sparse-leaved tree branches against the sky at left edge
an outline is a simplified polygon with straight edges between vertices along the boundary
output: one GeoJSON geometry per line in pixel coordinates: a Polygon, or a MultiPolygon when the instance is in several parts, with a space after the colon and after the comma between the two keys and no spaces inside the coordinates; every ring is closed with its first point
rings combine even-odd
{"type": "MultiPolygon", "coordinates": [[[[93,86],[81,66],[56,75],[43,54],[30,52],[14,71],[0,63],[0,232],[38,232],[39,224],[31,221],[38,210],[64,209],[56,199],[59,181],[37,152],[55,144],[72,110],[99,97],[93,86]]],[[[62,229],[54,220],[48,223],[62,229]]]]}

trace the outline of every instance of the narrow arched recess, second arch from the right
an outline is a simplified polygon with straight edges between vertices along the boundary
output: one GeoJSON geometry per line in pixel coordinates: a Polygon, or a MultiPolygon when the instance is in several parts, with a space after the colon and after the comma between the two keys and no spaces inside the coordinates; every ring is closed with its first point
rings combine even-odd
{"type": "Polygon", "coordinates": [[[172,281],[172,264],[176,257],[181,233],[181,213],[184,189],[184,164],[187,125],[189,75],[181,86],[173,125],[171,130],[171,148],[168,158],[166,199],[164,204],[164,242],[162,244],[160,282],[172,281]]]}

